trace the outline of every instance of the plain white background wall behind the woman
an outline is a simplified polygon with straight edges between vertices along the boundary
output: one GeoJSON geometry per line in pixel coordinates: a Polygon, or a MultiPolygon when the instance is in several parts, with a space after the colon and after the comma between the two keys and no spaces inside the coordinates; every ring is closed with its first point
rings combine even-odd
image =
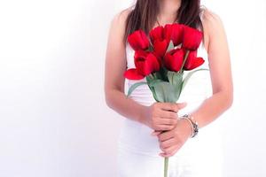
{"type": "MultiPolygon", "coordinates": [[[[0,1],[0,176],[115,173],[121,116],[104,97],[106,37],[131,0],[0,1]]],[[[266,176],[264,0],[202,1],[222,19],[235,97],[223,125],[226,177],[266,176]]]]}

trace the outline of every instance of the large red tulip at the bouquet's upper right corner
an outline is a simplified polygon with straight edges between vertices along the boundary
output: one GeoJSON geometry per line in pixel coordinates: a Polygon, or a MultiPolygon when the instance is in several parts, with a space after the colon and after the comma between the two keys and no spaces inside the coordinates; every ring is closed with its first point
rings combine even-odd
{"type": "Polygon", "coordinates": [[[202,40],[202,32],[192,27],[184,26],[182,47],[186,50],[197,50],[202,40]]]}

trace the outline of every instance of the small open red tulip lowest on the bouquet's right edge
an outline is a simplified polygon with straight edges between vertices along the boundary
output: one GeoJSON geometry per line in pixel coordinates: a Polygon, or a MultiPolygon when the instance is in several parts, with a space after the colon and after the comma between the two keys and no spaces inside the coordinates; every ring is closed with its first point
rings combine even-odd
{"type": "Polygon", "coordinates": [[[197,58],[197,50],[190,51],[184,63],[184,70],[192,70],[204,63],[203,58],[197,58]]]}

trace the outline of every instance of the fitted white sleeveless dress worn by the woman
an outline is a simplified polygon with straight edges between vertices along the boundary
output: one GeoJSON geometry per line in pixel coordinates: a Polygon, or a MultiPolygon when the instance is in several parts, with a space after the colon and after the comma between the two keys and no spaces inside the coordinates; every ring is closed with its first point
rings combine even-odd
{"type": "MultiPolygon", "coordinates": [[[[127,66],[134,68],[134,50],[126,47],[127,66]]],[[[207,52],[200,44],[198,56],[205,59],[199,68],[208,68],[207,52]]],[[[140,80],[145,81],[145,79],[140,80]]],[[[126,80],[127,89],[138,81],[126,80]]],[[[186,102],[187,106],[178,115],[192,112],[212,95],[210,74],[208,71],[194,73],[184,88],[177,103],[186,102]]],[[[151,105],[153,99],[147,85],[139,86],[130,99],[138,104],[151,105]]],[[[117,149],[117,173],[120,177],[163,177],[164,158],[158,138],[151,135],[153,129],[137,121],[125,118],[121,127],[117,149]]],[[[168,177],[220,177],[222,176],[223,154],[221,131],[215,122],[200,128],[199,134],[188,139],[184,146],[169,158],[168,177]]]]}

